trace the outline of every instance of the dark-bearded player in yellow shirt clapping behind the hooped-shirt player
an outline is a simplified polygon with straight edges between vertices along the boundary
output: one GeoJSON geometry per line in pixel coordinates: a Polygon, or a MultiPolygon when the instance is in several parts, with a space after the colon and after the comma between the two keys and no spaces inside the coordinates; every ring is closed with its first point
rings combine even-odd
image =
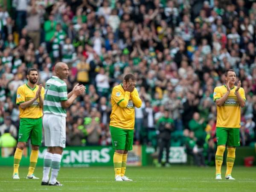
{"type": "Polygon", "coordinates": [[[29,69],[26,77],[28,82],[17,89],[16,104],[20,106],[20,129],[18,144],[14,154],[13,179],[20,179],[20,160],[29,137],[31,139],[32,150],[30,154],[29,173],[26,178],[39,179],[35,177],[34,170],[38,160],[39,145],[41,145],[42,140],[44,87],[42,87],[42,84],[36,84],[38,81],[37,69],[29,69]]]}

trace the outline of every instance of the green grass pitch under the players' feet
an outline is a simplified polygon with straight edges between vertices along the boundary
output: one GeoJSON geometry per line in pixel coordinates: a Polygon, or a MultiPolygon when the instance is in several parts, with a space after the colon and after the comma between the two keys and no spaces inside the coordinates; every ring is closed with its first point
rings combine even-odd
{"type": "MultiPolygon", "coordinates": [[[[112,167],[64,168],[58,180],[64,186],[41,186],[42,167],[26,179],[27,167],[20,167],[20,180],[12,179],[12,167],[0,167],[0,191],[88,191],[88,192],[245,192],[256,191],[256,167],[234,166],[236,180],[215,180],[215,167],[171,166],[168,168],[128,167],[131,182],[114,181],[112,167]]],[[[226,167],[222,167],[222,178],[226,167]]]]}

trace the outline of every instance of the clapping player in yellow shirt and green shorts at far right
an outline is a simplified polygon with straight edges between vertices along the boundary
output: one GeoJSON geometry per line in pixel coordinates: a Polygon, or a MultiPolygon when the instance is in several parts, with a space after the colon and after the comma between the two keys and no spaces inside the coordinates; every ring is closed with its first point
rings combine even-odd
{"type": "Polygon", "coordinates": [[[229,69],[225,72],[226,85],[215,87],[213,93],[214,102],[217,104],[217,151],[215,155],[216,177],[221,179],[221,165],[223,154],[227,145],[227,171],[225,178],[234,180],[231,176],[235,162],[236,147],[240,145],[240,119],[241,107],[245,106],[244,89],[241,81],[236,83],[236,73],[229,69]]]}

